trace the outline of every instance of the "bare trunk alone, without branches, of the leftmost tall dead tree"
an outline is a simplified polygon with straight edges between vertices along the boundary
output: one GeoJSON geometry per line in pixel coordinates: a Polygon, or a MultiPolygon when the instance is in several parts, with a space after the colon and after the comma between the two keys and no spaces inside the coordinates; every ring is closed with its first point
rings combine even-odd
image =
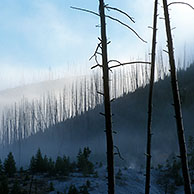
{"type": "Polygon", "coordinates": [[[107,59],[106,23],[104,13],[104,1],[100,0],[99,2],[100,2],[99,12],[101,21],[101,41],[102,41],[104,109],[105,109],[106,141],[107,141],[108,194],[114,194],[114,154],[113,154],[110,94],[109,94],[109,69],[107,59]]]}

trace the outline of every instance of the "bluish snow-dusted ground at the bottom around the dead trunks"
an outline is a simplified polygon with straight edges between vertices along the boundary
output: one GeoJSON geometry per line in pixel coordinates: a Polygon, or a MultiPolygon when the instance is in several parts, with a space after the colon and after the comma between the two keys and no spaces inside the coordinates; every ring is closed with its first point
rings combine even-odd
{"type": "MultiPolygon", "coordinates": [[[[71,173],[65,176],[48,176],[47,174],[29,174],[28,171],[17,173],[14,178],[8,179],[9,188],[13,188],[15,182],[21,188],[21,194],[68,194],[71,185],[75,186],[78,193],[86,187],[89,194],[107,193],[107,173],[104,166],[96,170],[97,173],[84,176],[82,173],[71,173]],[[79,191],[80,190],[80,191],[79,191]]],[[[117,194],[143,194],[143,172],[130,168],[115,168],[115,190],[117,194]]],[[[157,175],[152,174],[151,194],[162,194],[164,190],[156,184],[157,175]]],[[[179,192],[181,193],[181,192],[179,192]]]]}

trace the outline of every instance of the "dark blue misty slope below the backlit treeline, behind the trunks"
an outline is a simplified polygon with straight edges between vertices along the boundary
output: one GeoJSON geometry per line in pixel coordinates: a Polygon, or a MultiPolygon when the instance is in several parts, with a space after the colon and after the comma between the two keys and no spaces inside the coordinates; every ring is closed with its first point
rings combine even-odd
{"type": "MultiPolygon", "coordinates": [[[[186,137],[194,136],[194,66],[186,71],[178,72],[183,119],[186,137]]],[[[141,87],[112,102],[113,130],[115,145],[119,147],[124,161],[117,158],[116,163],[136,166],[144,164],[147,123],[148,86],[141,87]]],[[[17,161],[29,161],[38,147],[43,153],[75,156],[80,147],[89,146],[93,159],[105,161],[106,144],[104,134],[103,105],[97,105],[74,118],[60,122],[45,132],[35,135],[9,146],[17,161]],[[20,149],[19,149],[20,148],[20,149]],[[20,151],[19,151],[20,150],[20,151]],[[22,153],[22,154],[21,154],[22,153]]],[[[165,77],[155,84],[153,105],[153,163],[167,159],[169,154],[178,154],[176,123],[172,106],[170,78],[165,77]]],[[[2,153],[7,154],[4,148],[2,153]]]]}

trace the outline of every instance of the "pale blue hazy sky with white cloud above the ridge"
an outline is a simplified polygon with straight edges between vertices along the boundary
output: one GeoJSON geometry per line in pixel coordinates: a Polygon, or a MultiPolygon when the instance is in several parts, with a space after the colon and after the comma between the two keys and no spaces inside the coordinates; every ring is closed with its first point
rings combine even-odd
{"type": "MultiPolygon", "coordinates": [[[[168,1],[171,2],[171,1],[168,1]]],[[[194,6],[193,0],[185,2],[194,6]]],[[[107,12],[133,27],[139,35],[151,41],[153,0],[107,0],[135,18],[136,23],[107,12]]],[[[99,18],[70,9],[70,6],[98,11],[98,0],[1,0],[0,1],[0,90],[33,79],[46,79],[49,72],[62,76],[72,69],[77,73],[89,70],[88,59],[98,43],[99,18]]],[[[163,17],[162,1],[159,6],[163,17]]],[[[194,45],[194,10],[185,5],[171,6],[176,55],[184,48],[191,56],[194,45]]],[[[130,61],[143,59],[150,44],[141,42],[125,27],[107,20],[107,36],[111,40],[109,58],[130,61]]],[[[158,49],[165,49],[164,20],[159,20],[158,49]]],[[[55,75],[56,77],[56,75],[55,75]]]]}

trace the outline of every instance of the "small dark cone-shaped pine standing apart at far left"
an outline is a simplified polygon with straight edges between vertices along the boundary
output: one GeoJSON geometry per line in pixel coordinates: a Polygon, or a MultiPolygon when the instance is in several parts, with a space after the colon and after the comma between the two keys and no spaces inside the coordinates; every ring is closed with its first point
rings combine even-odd
{"type": "Polygon", "coordinates": [[[16,172],[15,160],[11,152],[4,161],[4,171],[9,177],[13,176],[16,172]]]}

